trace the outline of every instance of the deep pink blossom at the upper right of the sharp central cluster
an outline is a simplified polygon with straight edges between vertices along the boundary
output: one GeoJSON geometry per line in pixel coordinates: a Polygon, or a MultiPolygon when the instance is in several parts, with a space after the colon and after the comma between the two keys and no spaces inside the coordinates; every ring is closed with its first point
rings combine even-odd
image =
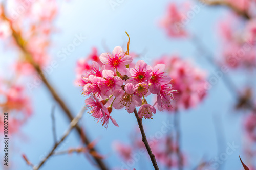
{"type": "Polygon", "coordinates": [[[149,81],[150,92],[152,94],[157,94],[160,91],[161,84],[167,83],[170,80],[170,77],[164,72],[165,65],[157,64],[153,68],[152,77],[149,81]]]}

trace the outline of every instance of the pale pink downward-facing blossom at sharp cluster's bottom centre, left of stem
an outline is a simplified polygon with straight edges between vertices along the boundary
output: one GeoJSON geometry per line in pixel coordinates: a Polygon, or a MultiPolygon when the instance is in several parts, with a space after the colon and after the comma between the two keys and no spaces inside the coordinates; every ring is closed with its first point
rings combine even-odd
{"type": "Polygon", "coordinates": [[[132,83],[127,83],[124,86],[125,94],[119,96],[113,102],[113,106],[115,109],[121,109],[125,106],[128,113],[133,113],[136,106],[141,106],[141,99],[133,95],[135,89],[132,83]]]}

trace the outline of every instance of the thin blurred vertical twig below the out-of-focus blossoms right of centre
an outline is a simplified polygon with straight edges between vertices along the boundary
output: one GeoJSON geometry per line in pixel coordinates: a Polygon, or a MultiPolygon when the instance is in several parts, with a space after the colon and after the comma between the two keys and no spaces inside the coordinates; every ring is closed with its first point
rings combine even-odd
{"type": "Polygon", "coordinates": [[[177,111],[174,113],[174,126],[176,129],[176,142],[177,142],[177,157],[178,157],[178,169],[183,169],[183,158],[181,153],[181,131],[180,131],[180,113],[177,111]]]}

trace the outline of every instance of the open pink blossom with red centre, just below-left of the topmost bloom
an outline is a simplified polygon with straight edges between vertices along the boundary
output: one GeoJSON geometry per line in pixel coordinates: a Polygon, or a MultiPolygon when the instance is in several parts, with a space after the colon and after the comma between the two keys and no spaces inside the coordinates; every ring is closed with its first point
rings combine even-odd
{"type": "Polygon", "coordinates": [[[121,89],[123,81],[120,77],[114,76],[114,72],[111,70],[103,70],[102,75],[105,80],[98,81],[98,86],[102,95],[110,96],[115,90],[121,89]]]}

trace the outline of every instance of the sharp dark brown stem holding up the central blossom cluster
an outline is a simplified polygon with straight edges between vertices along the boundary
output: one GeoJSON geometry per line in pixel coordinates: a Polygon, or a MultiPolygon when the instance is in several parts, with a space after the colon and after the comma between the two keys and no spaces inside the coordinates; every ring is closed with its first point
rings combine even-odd
{"type": "Polygon", "coordinates": [[[146,147],[148,155],[150,156],[151,162],[152,162],[155,169],[159,169],[158,166],[157,166],[157,161],[156,161],[155,155],[152,153],[150,145],[147,142],[146,135],[145,135],[144,128],[143,128],[143,124],[142,124],[142,119],[139,118],[139,115],[138,115],[138,112],[137,112],[136,108],[134,109],[134,114],[135,114],[135,117],[137,118],[139,128],[140,128],[140,132],[141,132],[141,135],[142,135],[142,141],[145,144],[145,147],[146,147]]]}

